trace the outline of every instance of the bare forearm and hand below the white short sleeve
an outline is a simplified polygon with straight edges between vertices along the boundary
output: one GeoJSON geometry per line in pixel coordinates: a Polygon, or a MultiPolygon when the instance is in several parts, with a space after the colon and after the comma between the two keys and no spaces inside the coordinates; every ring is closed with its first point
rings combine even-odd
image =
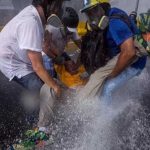
{"type": "Polygon", "coordinates": [[[42,61],[42,54],[40,52],[28,50],[28,56],[29,59],[31,60],[33,70],[36,72],[39,78],[49,87],[53,88],[56,94],[59,95],[60,87],[56,84],[56,82],[44,68],[42,61]]]}

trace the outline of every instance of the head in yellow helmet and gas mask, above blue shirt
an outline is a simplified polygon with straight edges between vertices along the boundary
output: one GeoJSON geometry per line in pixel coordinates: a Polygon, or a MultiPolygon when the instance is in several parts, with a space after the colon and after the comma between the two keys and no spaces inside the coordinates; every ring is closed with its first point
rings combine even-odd
{"type": "Polygon", "coordinates": [[[103,16],[107,16],[109,8],[109,0],[84,0],[84,7],[81,9],[81,12],[88,17],[90,26],[93,29],[98,29],[101,28],[101,25],[107,25],[108,18],[103,16]]]}

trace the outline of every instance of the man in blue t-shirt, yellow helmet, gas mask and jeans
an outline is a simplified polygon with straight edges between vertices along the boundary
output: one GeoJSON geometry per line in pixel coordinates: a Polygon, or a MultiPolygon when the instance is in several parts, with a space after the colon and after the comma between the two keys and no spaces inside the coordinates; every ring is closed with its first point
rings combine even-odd
{"type": "MultiPolygon", "coordinates": [[[[106,27],[106,47],[110,58],[119,54],[117,63],[105,82],[101,98],[107,103],[112,100],[112,93],[120,86],[124,85],[129,79],[139,75],[146,64],[146,56],[139,57],[134,63],[136,49],[134,46],[134,35],[138,29],[134,21],[121,9],[111,8],[109,0],[84,0],[84,8],[81,9],[88,17],[88,23],[92,30],[100,28],[101,18],[109,18],[106,27]],[[128,18],[130,25],[121,17],[128,18]]],[[[106,21],[105,21],[106,24],[106,21]]]]}

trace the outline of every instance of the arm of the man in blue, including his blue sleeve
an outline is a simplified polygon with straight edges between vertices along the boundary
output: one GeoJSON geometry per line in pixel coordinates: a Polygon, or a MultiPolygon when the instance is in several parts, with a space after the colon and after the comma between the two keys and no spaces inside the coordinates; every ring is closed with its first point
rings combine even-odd
{"type": "MultiPolygon", "coordinates": [[[[111,35],[111,42],[114,42],[116,45],[115,49],[118,49],[118,52],[120,52],[118,61],[110,74],[110,78],[113,78],[128,67],[136,57],[136,49],[133,39],[135,31],[131,30],[131,27],[129,27],[129,25],[123,20],[112,19],[109,24],[109,33],[111,35]]],[[[114,45],[112,46],[114,47],[114,45]]]]}

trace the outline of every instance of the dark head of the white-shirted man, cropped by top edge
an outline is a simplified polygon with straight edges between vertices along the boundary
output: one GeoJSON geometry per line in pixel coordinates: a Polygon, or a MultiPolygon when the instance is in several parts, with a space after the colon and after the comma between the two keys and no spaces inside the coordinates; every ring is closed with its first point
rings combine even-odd
{"type": "Polygon", "coordinates": [[[46,19],[53,13],[57,14],[62,7],[63,0],[33,0],[32,5],[41,6],[46,19]]]}

